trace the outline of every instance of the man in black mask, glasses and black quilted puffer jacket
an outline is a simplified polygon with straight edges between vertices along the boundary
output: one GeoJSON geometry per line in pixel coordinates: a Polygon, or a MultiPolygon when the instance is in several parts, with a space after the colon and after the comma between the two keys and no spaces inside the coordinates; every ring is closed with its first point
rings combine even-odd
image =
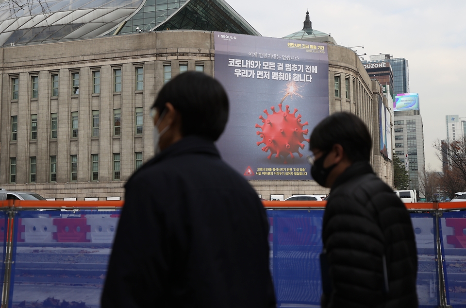
{"type": "Polygon", "coordinates": [[[311,134],[311,174],[331,188],[322,227],[322,308],[418,306],[410,215],[372,171],[371,146],[366,125],[350,113],[331,115],[311,134]]]}

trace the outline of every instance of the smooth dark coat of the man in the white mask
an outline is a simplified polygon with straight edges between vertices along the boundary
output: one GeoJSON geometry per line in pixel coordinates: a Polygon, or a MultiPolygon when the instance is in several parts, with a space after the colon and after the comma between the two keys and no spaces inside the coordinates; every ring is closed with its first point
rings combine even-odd
{"type": "Polygon", "coordinates": [[[184,137],[125,188],[102,308],[276,306],[265,209],[212,141],[184,137]]]}

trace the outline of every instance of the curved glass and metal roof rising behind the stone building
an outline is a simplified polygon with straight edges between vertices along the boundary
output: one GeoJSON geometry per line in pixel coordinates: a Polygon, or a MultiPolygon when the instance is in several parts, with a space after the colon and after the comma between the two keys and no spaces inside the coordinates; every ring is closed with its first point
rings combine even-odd
{"type": "Polygon", "coordinates": [[[260,35],[224,0],[3,0],[0,46],[189,29],[260,35]]]}

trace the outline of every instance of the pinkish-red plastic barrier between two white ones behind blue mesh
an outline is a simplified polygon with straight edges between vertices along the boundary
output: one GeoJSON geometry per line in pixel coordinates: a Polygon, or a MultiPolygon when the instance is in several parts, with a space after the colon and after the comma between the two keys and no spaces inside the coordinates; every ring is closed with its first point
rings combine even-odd
{"type": "Polygon", "coordinates": [[[57,226],[57,232],[52,237],[58,242],[90,242],[86,234],[91,232],[91,226],[86,224],[85,218],[55,218],[53,224],[57,226]]]}

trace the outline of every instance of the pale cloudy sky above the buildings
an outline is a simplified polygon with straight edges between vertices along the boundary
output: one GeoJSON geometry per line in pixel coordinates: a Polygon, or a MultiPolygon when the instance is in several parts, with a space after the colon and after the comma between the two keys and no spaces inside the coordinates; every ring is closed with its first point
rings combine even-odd
{"type": "Polygon", "coordinates": [[[464,0],[226,0],[262,36],[300,31],[309,9],[312,28],[358,54],[389,53],[409,64],[419,93],[426,169],[441,171],[433,148],[445,139],[446,115],[466,120],[466,1],[464,0]]]}

